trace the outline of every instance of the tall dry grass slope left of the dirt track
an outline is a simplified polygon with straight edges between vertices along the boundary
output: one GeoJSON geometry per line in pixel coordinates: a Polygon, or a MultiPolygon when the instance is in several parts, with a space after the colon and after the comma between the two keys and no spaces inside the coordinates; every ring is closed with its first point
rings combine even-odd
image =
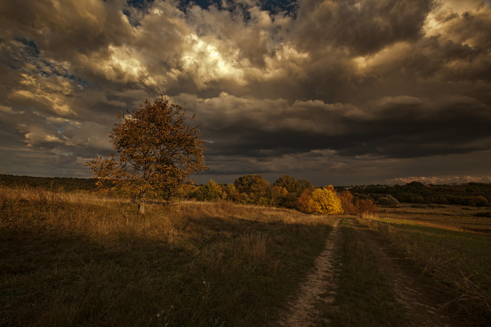
{"type": "Polygon", "coordinates": [[[0,325],[258,326],[277,319],[327,217],[0,186],[0,325]]]}

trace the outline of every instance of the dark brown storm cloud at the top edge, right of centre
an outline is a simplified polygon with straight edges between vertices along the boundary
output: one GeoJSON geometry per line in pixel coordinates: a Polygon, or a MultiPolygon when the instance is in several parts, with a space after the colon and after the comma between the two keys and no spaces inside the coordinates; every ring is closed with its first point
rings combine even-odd
{"type": "Polygon", "coordinates": [[[351,55],[365,55],[421,36],[433,4],[417,1],[303,0],[294,29],[299,45],[309,52],[342,47],[351,55]]]}

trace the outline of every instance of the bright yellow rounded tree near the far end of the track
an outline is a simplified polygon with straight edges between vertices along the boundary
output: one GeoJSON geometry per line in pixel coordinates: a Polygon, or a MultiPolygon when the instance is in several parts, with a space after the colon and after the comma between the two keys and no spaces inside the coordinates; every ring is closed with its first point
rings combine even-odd
{"type": "Polygon", "coordinates": [[[334,187],[329,185],[312,191],[306,205],[306,211],[322,215],[337,215],[343,213],[343,207],[334,187]]]}

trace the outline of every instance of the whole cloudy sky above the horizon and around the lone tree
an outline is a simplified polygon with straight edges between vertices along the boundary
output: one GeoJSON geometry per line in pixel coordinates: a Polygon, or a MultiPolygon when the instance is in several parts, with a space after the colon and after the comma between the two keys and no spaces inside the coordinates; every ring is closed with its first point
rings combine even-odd
{"type": "Polygon", "coordinates": [[[490,0],[1,1],[0,173],[91,177],[163,95],[198,184],[491,182],[490,82],[490,0]]]}

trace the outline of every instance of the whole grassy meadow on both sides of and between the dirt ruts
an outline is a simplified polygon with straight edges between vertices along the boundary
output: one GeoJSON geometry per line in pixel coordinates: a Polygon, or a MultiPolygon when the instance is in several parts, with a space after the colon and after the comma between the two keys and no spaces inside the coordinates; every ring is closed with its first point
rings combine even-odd
{"type": "Polygon", "coordinates": [[[335,299],[316,304],[314,325],[416,326],[383,251],[439,294],[450,326],[488,326],[488,212],[402,203],[320,216],[176,201],[142,215],[98,191],[0,185],[0,325],[276,326],[341,220],[338,281],[318,290],[335,299]]]}

